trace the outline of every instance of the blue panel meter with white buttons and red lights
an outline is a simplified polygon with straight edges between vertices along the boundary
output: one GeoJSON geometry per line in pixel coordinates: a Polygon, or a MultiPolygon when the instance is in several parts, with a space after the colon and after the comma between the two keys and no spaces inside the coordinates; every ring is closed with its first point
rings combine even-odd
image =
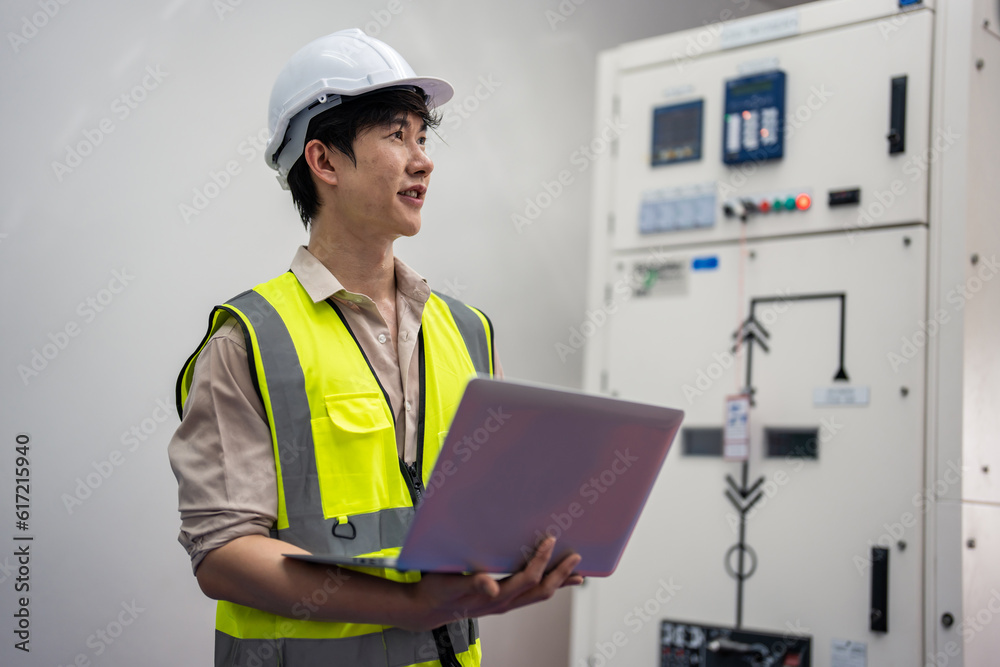
{"type": "Polygon", "coordinates": [[[723,162],[739,164],[782,157],[784,125],[784,72],[762,72],[726,82],[723,162]]]}

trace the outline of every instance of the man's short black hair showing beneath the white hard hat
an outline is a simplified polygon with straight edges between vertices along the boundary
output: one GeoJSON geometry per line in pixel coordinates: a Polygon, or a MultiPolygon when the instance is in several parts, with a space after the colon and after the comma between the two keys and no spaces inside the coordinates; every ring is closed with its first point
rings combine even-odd
{"type": "MultiPolygon", "coordinates": [[[[441,118],[427,108],[420,88],[384,88],[357,97],[345,96],[340,104],[309,121],[303,147],[313,139],[319,139],[327,147],[346,155],[357,166],[354,140],[358,135],[391,123],[401,113],[411,112],[417,114],[428,128],[441,124],[441,118]]],[[[288,172],[288,189],[292,191],[292,201],[299,210],[302,224],[308,230],[321,202],[304,156],[300,156],[288,172]]]]}

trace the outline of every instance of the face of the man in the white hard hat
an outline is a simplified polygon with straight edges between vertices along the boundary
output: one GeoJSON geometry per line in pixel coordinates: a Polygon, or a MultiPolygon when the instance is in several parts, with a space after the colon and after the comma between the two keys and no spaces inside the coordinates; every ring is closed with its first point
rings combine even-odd
{"type": "Polygon", "coordinates": [[[338,219],[372,240],[394,241],[420,231],[420,209],[434,169],[424,152],[426,141],[420,116],[401,113],[389,125],[358,135],[357,166],[336,153],[331,159],[337,173],[331,204],[338,219]]]}

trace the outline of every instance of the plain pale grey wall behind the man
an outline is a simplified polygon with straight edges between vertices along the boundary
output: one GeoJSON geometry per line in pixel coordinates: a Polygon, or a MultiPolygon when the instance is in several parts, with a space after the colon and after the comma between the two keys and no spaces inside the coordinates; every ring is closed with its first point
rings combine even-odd
{"type": "MultiPolygon", "coordinates": [[[[770,6],[779,4],[789,2],[770,6]]],[[[596,53],[769,8],[400,0],[393,15],[390,7],[0,7],[0,664],[211,660],[213,605],[175,542],[165,450],[177,420],[159,406],[172,403],[210,307],[286,269],[305,240],[287,193],[248,141],[266,127],[273,78],[299,46],[358,26],[418,72],[455,85],[424,230],[397,251],[432,285],[493,317],[509,376],[576,386],[581,355],[560,358],[555,346],[584,319],[590,175],[571,160],[593,136],[596,53]],[[70,150],[86,155],[68,158],[70,150]],[[204,204],[194,191],[230,162],[239,173],[219,191],[208,187],[216,196],[185,220],[180,207],[204,204]],[[564,169],[573,182],[519,233],[512,214],[564,169]],[[30,436],[26,531],[14,516],[19,433],[30,436]],[[26,592],[15,591],[20,544],[30,544],[26,592]],[[15,650],[7,629],[19,597],[29,598],[30,653],[15,650]]],[[[568,608],[560,595],[484,622],[489,664],[565,664],[568,608]]]]}

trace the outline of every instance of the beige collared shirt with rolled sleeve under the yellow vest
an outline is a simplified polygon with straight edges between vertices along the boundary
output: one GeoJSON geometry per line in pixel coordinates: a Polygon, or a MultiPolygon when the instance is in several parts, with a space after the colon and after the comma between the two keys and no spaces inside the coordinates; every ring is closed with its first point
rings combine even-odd
{"type": "MultiPolygon", "coordinates": [[[[417,335],[430,288],[395,260],[397,338],[369,297],[349,292],[305,247],[292,273],[319,303],[332,298],[367,355],[395,411],[396,448],[416,460],[420,404],[417,335]]],[[[495,350],[495,346],[494,346],[495,350]]],[[[499,362],[493,362],[501,376],[499,362]]],[[[205,554],[237,537],[268,535],[277,517],[277,474],[267,417],[254,389],[240,326],[228,319],[205,345],[194,368],[184,417],[168,446],[178,483],[178,541],[197,571],[205,554]]]]}

